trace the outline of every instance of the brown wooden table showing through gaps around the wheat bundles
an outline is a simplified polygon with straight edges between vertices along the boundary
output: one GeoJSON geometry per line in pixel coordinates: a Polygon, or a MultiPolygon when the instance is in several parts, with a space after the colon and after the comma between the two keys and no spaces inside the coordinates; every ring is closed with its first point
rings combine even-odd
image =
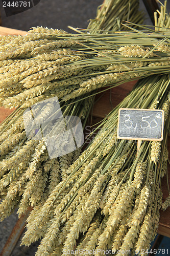
{"type": "MultiPolygon", "coordinates": [[[[0,35],[8,35],[8,34],[15,34],[15,35],[25,35],[28,32],[9,29],[0,27],[0,35]]],[[[114,89],[111,89],[100,95],[101,98],[97,101],[93,108],[93,117],[96,120],[98,118],[104,118],[111,110],[114,108],[120,101],[122,101],[125,96],[132,90],[135,81],[125,83],[121,86],[118,86],[114,89]],[[110,103],[110,99],[112,104],[110,103]]],[[[0,123],[12,112],[13,110],[0,108],[0,123]]],[[[170,153],[170,138],[168,137],[168,152],[170,153]]],[[[170,177],[170,166],[168,166],[168,174],[170,177]]],[[[169,179],[169,186],[170,186],[170,179],[169,179]]],[[[161,180],[161,187],[163,192],[163,200],[168,196],[167,190],[167,180],[164,177],[161,180]]],[[[160,210],[160,221],[158,227],[158,233],[162,234],[163,236],[167,236],[170,238],[170,207],[167,210],[162,211],[160,210]]]]}

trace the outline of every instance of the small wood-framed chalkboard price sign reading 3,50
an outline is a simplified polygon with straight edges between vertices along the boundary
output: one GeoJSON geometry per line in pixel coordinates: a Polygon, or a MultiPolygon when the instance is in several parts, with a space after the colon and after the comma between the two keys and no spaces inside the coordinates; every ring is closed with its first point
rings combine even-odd
{"type": "Polygon", "coordinates": [[[117,138],[161,141],[163,124],[163,110],[121,108],[118,111],[117,138]]]}

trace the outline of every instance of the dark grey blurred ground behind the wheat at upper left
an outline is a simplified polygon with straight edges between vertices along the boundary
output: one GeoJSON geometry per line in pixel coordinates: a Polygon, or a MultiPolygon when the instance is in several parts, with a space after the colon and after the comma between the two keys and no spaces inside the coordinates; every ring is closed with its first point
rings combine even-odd
{"type": "Polygon", "coordinates": [[[95,17],[96,8],[103,0],[41,0],[32,9],[9,17],[6,17],[2,1],[0,3],[4,27],[28,31],[31,27],[43,26],[68,31],[68,25],[86,28],[88,19],[95,17]]]}

